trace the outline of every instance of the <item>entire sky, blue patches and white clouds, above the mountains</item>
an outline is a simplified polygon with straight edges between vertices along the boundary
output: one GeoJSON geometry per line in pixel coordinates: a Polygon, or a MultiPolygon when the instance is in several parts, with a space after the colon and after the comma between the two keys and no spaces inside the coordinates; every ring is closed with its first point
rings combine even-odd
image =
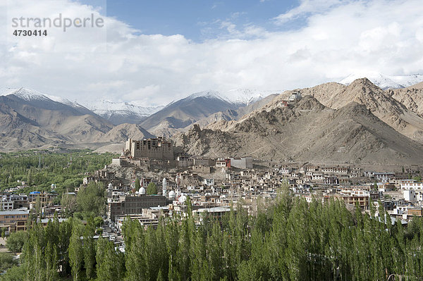
{"type": "Polygon", "coordinates": [[[157,106],[209,89],[423,73],[422,14],[421,0],[2,0],[0,87],[157,106]],[[104,24],[13,25],[59,15],[104,24]]]}

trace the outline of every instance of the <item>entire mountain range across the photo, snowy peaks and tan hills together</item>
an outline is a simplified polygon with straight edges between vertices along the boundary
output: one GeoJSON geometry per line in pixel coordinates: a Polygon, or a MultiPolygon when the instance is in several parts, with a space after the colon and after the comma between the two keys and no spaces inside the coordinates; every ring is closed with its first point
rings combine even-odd
{"type": "Polygon", "coordinates": [[[106,100],[82,106],[32,89],[1,89],[0,151],[49,146],[106,151],[128,137],[166,135],[177,152],[193,155],[422,164],[422,82],[407,86],[414,81],[407,80],[384,90],[374,77],[345,81],[285,92],[238,89],[230,91],[231,98],[228,92],[204,91],[158,108],[106,100]]]}

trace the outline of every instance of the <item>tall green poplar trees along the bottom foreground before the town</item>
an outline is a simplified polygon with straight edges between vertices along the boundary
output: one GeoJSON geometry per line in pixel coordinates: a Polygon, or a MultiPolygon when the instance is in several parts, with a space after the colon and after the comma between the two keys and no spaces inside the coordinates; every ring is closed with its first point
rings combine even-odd
{"type": "Polygon", "coordinates": [[[124,253],[109,240],[94,239],[92,219],[87,225],[55,219],[28,231],[22,266],[3,278],[422,280],[422,218],[404,227],[391,223],[383,208],[375,213],[348,211],[337,200],[308,204],[282,192],[257,216],[237,206],[220,220],[204,216],[198,225],[188,199],[188,216],[161,220],[155,229],[126,220],[124,253]]]}

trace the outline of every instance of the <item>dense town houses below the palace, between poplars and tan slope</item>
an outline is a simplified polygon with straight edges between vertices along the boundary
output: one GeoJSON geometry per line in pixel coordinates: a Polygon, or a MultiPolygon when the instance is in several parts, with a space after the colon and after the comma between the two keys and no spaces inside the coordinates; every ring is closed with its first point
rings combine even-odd
{"type": "Polygon", "coordinates": [[[415,210],[420,208],[420,202],[423,204],[422,184],[409,180],[423,170],[418,166],[403,168],[401,173],[381,173],[356,166],[263,162],[250,156],[188,155],[177,156],[173,164],[175,168],[166,175],[157,173],[141,178],[140,190],[135,190],[133,185],[123,185],[123,179],[108,177],[111,173],[107,172],[108,167],[97,172],[97,180],[109,180],[109,220],[121,225],[125,217],[130,216],[145,227],[157,225],[162,217],[185,216],[188,196],[198,223],[202,214],[220,217],[230,211],[231,206],[239,206],[238,203],[254,214],[257,201],[271,201],[283,186],[289,187],[293,196],[301,196],[309,202],[339,199],[351,208],[360,206],[362,211],[368,211],[370,204],[384,204],[393,216],[405,220],[417,216],[415,210]],[[159,187],[158,194],[145,194],[150,182],[159,187]],[[410,182],[416,187],[405,192],[405,183],[410,182]]]}

